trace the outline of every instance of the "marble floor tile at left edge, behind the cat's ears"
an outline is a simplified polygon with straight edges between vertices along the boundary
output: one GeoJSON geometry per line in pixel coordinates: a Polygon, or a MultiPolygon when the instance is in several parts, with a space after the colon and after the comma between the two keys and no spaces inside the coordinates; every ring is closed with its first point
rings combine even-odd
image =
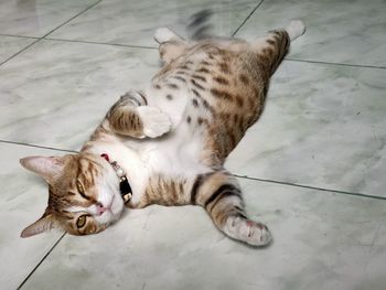
{"type": "Polygon", "coordinates": [[[54,151],[0,142],[0,284],[17,289],[62,235],[20,238],[21,230],[43,214],[49,194],[44,182],[22,169],[19,159],[54,151]]]}

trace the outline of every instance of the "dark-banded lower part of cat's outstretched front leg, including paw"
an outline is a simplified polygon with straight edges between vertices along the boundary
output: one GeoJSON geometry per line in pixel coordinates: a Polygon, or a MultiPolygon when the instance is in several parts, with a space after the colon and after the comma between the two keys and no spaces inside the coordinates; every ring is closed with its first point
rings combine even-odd
{"type": "Polygon", "coordinates": [[[271,235],[261,223],[247,217],[240,187],[227,172],[199,175],[191,191],[191,202],[203,206],[225,235],[253,246],[266,246],[271,235]]]}

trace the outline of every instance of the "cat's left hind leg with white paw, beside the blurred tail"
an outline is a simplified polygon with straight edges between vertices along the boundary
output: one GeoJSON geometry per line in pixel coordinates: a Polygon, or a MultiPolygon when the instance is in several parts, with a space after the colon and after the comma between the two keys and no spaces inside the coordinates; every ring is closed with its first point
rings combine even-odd
{"type": "Polygon", "coordinates": [[[154,39],[160,44],[160,57],[165,64],[182,55],[187,47],[187,43],[182,37],[167,28],[158,29],[154,39]]]}

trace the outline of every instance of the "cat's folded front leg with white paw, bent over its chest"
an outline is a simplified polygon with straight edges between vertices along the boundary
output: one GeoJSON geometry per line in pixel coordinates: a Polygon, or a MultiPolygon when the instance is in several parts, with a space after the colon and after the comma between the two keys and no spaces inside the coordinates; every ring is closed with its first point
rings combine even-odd
{"type": "Polygon", "coordinates": [[[146,97],[138,92],[127,93],[107,112],[104,127],[135,138],[156,138],[170,131],[169,115],[147,104],[146,97]]]}

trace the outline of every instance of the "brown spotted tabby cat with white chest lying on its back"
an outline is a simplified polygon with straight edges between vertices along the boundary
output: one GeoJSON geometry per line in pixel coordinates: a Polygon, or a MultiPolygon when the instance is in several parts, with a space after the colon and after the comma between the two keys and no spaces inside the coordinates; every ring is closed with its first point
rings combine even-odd
{"type": "Polygon", "coordinates": [[[253,42],[191,43],[158,29],[160,72],[144,90],[120,97],[79,153],[20,160],[49,184],[43,216],[21,237],[54,227],[95,234],[125,206],[192,204],[228,237],[268,245],[269,229],[247,217],[242,189],[223,164],[259,118],[270,76],[303,32],[292,21],[253,42]]]}

